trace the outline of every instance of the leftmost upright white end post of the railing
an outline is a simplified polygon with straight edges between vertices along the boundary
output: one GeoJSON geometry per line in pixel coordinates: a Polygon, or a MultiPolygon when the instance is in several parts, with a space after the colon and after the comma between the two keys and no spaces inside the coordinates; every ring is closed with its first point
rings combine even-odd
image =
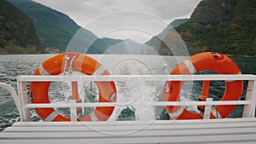
{"type": "Polygon", "coordinates": [[[29,103],[26,89],[26,82],[20,82],[18,79],[18,95],[20,99],[20,121],[26,122],[31,121],[30,109],[26,108],[26,104],[29,103]]]}

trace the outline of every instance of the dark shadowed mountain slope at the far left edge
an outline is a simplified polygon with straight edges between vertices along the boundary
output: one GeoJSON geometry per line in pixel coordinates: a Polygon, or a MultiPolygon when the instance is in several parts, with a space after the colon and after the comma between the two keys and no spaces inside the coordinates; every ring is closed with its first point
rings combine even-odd
{"type": "Polygon", "coordinates": [[[0,54],[41,53],[32,20],[5,0],[0,5],[0,54]]]}

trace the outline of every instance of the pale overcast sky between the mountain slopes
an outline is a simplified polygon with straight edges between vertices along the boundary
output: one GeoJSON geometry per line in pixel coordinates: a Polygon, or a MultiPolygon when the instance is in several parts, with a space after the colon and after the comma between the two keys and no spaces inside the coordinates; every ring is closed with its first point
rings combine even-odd
{"type": "Polygon", "coordinates": [[[146,42],[201,0],[34,0],[67,14],[97,37],[146,42]]]}

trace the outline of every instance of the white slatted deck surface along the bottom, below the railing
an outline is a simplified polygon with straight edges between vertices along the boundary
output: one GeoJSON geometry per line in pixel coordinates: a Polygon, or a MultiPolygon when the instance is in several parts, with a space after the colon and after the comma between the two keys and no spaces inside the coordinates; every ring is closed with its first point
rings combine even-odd
{"type": "Polygon", "coordinates": [[[0,143],[256,143],[256,118],[115,122],[19,122],[0,143]]]}

